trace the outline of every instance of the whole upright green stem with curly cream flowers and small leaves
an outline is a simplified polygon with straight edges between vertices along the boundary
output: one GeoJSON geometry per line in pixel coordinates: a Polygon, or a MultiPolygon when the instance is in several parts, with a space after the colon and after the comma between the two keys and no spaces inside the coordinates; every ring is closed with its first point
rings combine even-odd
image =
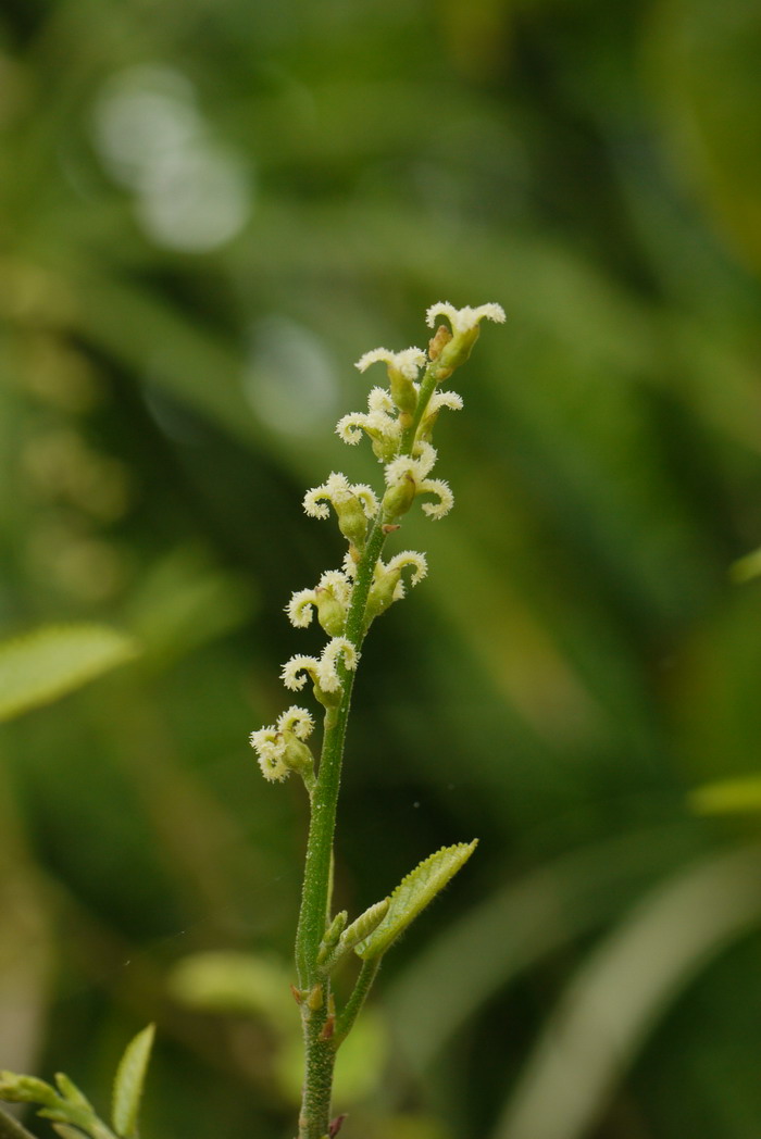
{"type": "Polygon", "coordinates": [[[425,557],[412,550],[382,559],[390,535],[401,527],[418,499],[429,518],[443,518],[453,506],[449,484],[432,477],[437,452],[432,443],[443,408],[459,410],[460,396],[440,385],[468,359],[481,322],[501,323],[498,304],[455,309],[434,304],[427,322],[434,327],[427,352],[418,347],[391,352],[374,349],[357,363],[366,371],[386,366],[387,386],[373,387],[366,412],[351,412],[337,424],[343,442],[369,440],[383,465],[382,493],[352,484],[333,472],[325,483],[306,492],[304,510],[327,519],[333,513],[347,549],[339,570],[328,570],[317,585],[297,591],[286,606],[296,628],[314,616],[328,637],[319,656],[292,657],[283,667],[286,688],[301,691],[311,681],[322,706],[322,745],[316,767],[306,743],[314,729],[312,714],[292,705],[277,721],[251,735],[262,773],[280,781],[292,771],[301,776],[310,798],[310,825],[296,931],[294,994],[301,1010],[305,1046],[303,1100],[298,1139],[326,1139],[330,1131],[333,1071],[336,1052],[351,1031],[376,976],[380,960],[403,928],[469,858],[475,843],[460,843],[429,855],[395,891],[358,918],[346,911],[330,913],[333,842],[341,785],[346,722],[362,645],[371,623],[407,587],[427,573],[425,557]],[[342,1009],[336,1008],[332,978],[349,958],[361,965],[354,989],[342,1009]]]}

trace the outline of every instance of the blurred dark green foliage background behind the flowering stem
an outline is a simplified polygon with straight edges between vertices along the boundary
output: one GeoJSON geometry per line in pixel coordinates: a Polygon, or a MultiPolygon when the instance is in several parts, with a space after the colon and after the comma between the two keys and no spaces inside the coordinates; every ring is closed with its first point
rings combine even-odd
{"type": "Polygon", "coordinates": [[[0,634],[142,645],[3,726],[0,1066],[103,1105],[156,1018],[147,1137],[293,1133],[305,811],[246,737],[341,557],[301,498],[377,477],[353,361],[496,301],[365,653],[339,901],[481,845],[346,1139],[755,1139],[758,814],[689,795],[761,769],[761,9],[5,0],[0,46],[0,634]],[[253,1015],[172,986],[222,950],[253,1015]]]}

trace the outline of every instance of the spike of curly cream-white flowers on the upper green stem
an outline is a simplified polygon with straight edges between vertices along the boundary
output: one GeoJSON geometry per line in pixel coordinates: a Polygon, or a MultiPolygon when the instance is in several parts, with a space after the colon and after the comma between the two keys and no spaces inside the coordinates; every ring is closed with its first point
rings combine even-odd
{"type": "MultiPolygon", "coordinates": [[[[399,528],[400,519],[418,497],[425,499],[422,508],[429,518],[443,518],[451,510],[453,497],[449,484],[432,477],[436,462],[432,436],[442,408],[457,411],[463,400],[457,392],[442,390],[440,385],[467,360],[481,321],[505,320],[498,304],[455,309],[448,302],[440,302],[427,311],[431,328],[437,317],[443,317],[447,323],[435,328],[427,352],[418,347],[402,352],[380,347],[358,360],[361,372],[375,363],[384,363],[387,386],[373,387],[367,411],[351,412],[336,426],[339,437],[350,445],[368,437],[373,453],[384,467],[380,500],[370,486],[352,484],[338,472],[333,472],[304,497],[304,510],[310,517],[328,518],[332,510],[335,513],[349,550],[341,570],[326,571],[313,589],[298,590],[286,606],[292,624],[306,628],[317,615],[330,639],[319,657],[293,656],[284,665],[281,679],[286,688],[295,691],[311,680],[316,698],[327,710],[341,702],[370,623],[404,596],[407,584],[416,585],[426,575],[425,558],[412,550],[384,563],[379,556],[382,542],[386,534],[399,528]],[[349,629],[353,630],[351,639],[349,629]]],[[[304,740],[312,728],[309,713],[294,706],[275,726],[252,732],[251,743],[265,778],[284,779],[296,770],[311,794],[313,762],[304,740]]]]}

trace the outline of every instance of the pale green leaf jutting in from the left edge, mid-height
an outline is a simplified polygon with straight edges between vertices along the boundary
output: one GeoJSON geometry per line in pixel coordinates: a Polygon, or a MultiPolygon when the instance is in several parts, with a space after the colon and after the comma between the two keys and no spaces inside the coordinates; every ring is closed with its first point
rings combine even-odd
{"type": "Polygon", "coordinates": [[[49,704],[137,654],[105,625],[52,625],[0,645],[0,721],[49,704]]]}

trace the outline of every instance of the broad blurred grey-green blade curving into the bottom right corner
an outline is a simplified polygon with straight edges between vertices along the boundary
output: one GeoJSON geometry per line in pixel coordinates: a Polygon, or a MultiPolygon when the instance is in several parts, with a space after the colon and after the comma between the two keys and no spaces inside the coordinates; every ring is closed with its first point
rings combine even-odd
{"type": "Polygon", "coordinates": [[[760,920],[756,845],[704,859],[650,892],[571,981],[493,1139],[588,1134],[658,1017],[760,920]]]}

